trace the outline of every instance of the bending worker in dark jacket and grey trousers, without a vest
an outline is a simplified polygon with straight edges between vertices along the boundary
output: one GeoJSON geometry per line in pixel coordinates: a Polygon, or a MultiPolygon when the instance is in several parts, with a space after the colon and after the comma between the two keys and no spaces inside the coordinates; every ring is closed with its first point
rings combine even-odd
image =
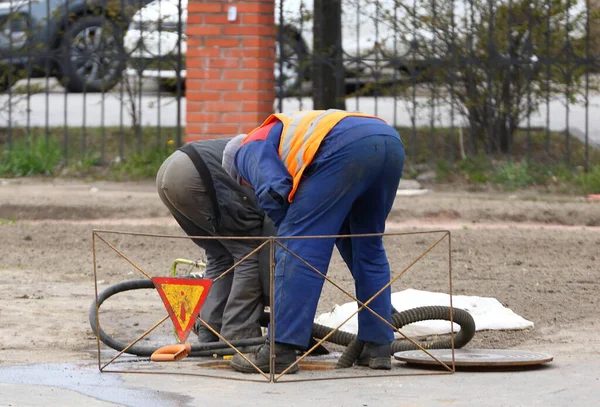
{"type": "MultiPolygon", "coordinates": [[[[156,177],[160,199],[188,236],[272,236],[276,230],[258,206],[254,192],[223,169],[228,141],[194,141],[169,156],[156,177]]],[[[194,243],[205,251],[206,278],[215,279],[262,241],[194,239],[194,243]]],[[[200,318],[228,340],[262,335],[259,319],[268,305],[264,295],[268,293],[268,252],[267,247],[250,256],[214,282],[209,291],[200,318]]],[[[200,342],[218,340],[199,320],[194,332],[200,342]]]]}

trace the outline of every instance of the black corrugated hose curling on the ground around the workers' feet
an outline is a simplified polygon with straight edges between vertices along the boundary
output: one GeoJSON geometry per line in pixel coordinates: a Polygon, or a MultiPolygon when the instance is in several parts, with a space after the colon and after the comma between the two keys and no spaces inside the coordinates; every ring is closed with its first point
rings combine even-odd
{"type": "MultiPolygon", "coordinates": [[[[152,280],[149,279],[129,280],[117,283],[106,288],[100,294],[98,294],[98,309],[104,301],[106,301],[108,298],[112,297],[115,294],[131,290],[154,288],[154,283],[152,282],[152,280]]],[[[461,330],[454,337],[454,347],[461,348],[464,345],[466,345],[471,340],[471,338],[473,338],[473,335],[475,334],[475,321],[473,320],[473,317],[471,317],[471,315],[464,310],[453,308],[453,311],[453,320],[461,327],[461,330]]],[[[126,344],[123,344],[111,338],[106,332],[104,332],[102,328],[97,330],[95,300],[90,306],[89,320],[92,330],[96,335],[98,335],[98,337],[104,344],[119,352],[127,347],[126,344]]],[[[268,321],[268,318],[265,318],[264,320],[268,321]]],[[[414,322],[426,320],[450,321],[450,307],[419,307],[402,312],[395,311],[392,315],[392,325],[394,325],[396,328],[401,328],[405,325],[414,322]]],[[[332,328],[329,328],[324,325],[314,324],[312,334],[313,337],[320,339],[325,337],[325,335],[329,334],[329,332],[331,331],[332,328]]],[[[257,346],[265,343],[265,340],[265,337],[250,338],[231,341],[231,344],[237,348],[240,348],[240,350],[244,352],[252,352],[257,346]]],[[[363,343],[356,339],[356,335],[344,331],[334,332],[329,338],[327,338],[327,342],[347,347],[346,351],[343,353],[342,357],[340,358],[337,364],[338,368],[352,366],[354,361],[360,356],[360,353],[362,352],[363,348],[363,343]]],[[[419,344],[425,349],[448,349],[451,347],[450,338],[436,341],[419,342],[419,344]]],[[[150,346],[134,345],[127,349],[126,353],[137,356],[151,356],[152,353],[154,353],[157,349],[158,348],[150,346]]],[[[391,345],[392,354],[412,349],[418,348],[408,341],[396,340],[392,342],[391,345]]],[[[189,356],[200,357],[212,356],[215,354],[220,356],[232,355],[235,354],[235,351],[229,348],[229,346],[224,342],[211,342],[192,345],[192,351],[190,352],[189,356]]]]}

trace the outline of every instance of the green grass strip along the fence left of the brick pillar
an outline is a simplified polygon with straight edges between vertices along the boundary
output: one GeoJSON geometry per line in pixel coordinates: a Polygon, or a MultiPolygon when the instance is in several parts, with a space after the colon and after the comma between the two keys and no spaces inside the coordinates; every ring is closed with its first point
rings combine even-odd
{"type": "Polygon", "coordinates": [[[0,129],[0,174],[150,178],[174,150],[174,128],[0,129]],[[10,140],[10,143],[9,143],[10,140]]]}

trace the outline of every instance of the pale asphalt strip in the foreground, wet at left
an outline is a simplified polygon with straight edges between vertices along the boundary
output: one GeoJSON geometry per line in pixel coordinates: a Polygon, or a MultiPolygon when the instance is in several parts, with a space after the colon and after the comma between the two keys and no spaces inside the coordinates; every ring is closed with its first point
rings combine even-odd
{"type": "MultiPolygon", "coordinates": [[[[138,364],[140,370],[144,368],[142,365],[138,364]]],[[[153,368],[162,367],[165,366],[153,368]]],[[[123,368],[125,366],[121,366],[123,368]]],[[[335,377],[341,373],[314,371],[312,374],[304,373],[302,377],[290,377],[314,381],[276,384],[167,373],[166,370],[180,372],[177,365],[160,370],[163,374],[100,373],[98,366],[91,361],[80,364],[2,366],[0,405],[562,407],[593,406],[600,399],[598,355],[558,357],[550,365],[534,370],[457,371],[442,376],[320,381],[320,378],[335,377]]],[[[393,374],[431,372],[403,366],[391,371],[393,374]]],[[[222,374],[220,371],[202,372],[199,368],[191,369],[190,373],[222,374]]],[[[361,373],[365,374],[363,371],[353,374],[361,373]]],[[[367,369],[366,374],[375,373],[367,369]]],[[[256,375],[250,376],[253,377],[244,378],[258,379],[256,375]]]]}

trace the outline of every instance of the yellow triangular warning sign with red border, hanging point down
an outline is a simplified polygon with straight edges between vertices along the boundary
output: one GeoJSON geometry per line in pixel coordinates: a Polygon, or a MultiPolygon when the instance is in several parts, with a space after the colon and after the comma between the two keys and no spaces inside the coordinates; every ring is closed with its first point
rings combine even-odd
{"type": "Polygon", "coordinates": [[[154,277],[152,282],[173,321],[179,340],[185,342],[206,300],[212,280],[154,277]]]}

